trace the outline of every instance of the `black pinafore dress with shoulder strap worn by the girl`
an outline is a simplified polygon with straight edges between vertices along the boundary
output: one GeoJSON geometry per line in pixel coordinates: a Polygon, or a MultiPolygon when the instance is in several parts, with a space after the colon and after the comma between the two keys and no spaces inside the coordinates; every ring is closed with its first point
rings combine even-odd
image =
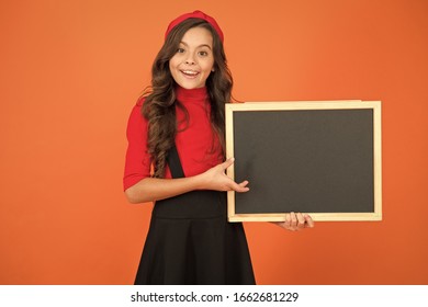
{"type": "MultiPolygon", "coordinates": [[[[172,178],[184,173],[176,147],[172,178]]],[[[192,191],[156,202],[136,285],[255,284],[240,223],[227,221],[226,193],[192,191]]]]}

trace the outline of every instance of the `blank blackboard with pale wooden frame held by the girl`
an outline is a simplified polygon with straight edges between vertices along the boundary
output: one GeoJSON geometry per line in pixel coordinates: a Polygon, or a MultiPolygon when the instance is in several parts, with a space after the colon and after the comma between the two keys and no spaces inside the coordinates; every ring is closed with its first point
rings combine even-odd
{"type": "Polygon", "coordinates": [[[382,218],[380,102],[227,104],[226,150],[250,187],[228,192],[229,221],[382,218]]]}

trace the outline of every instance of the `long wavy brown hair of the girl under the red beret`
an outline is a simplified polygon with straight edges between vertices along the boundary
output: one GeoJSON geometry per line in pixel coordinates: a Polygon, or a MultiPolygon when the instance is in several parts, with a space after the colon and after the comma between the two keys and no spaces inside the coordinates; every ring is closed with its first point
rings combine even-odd
{"type": "MultiPolygon", "coordinates": [[[[211,126],[222,146],[225,157],[225,103],[230,101],[233,78],[227,67],[223,43],[216,31],[202,19],[188,19],[178,24],[167,36],[151,67],[151,86],[143,96],[142,113],[148,121],[148,154],[154,162],[155,178],[164,178],[168,151],[174,146],[177,135],[176,105],[184,111],[176,98],[176,81],[169,70],[169,60],[177,53],[180,42],[192,27],[201,26],[213,36],[214,71],[206,79],[206,89],[211,103],[211,126]]],[[[214,149],[214,148],[213,148],[214,149]]]]}

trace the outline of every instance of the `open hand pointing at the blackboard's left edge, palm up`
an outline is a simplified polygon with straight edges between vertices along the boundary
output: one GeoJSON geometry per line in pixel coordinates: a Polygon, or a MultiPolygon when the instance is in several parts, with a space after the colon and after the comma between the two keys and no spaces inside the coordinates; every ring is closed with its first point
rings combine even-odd
{"type": "Polygon", "coordinates": [[[225,162],[211,168],[206,172],[202,173],[203,189],[215,190],[215,191],[235,191],[235,192],[248,192],[248,181],[245,180],[240,183],[236,183],[229,177],[226,175],[225,171],[228,167],[234,163],[235,159],[227,159],[225,162]]]}

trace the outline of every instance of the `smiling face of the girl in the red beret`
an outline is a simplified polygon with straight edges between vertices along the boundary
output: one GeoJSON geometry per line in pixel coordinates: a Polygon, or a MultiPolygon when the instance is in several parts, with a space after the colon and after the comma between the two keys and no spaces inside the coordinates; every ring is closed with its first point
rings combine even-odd
{"type": "Polygon", "coordinates": [[[169,69],[176,82],[184,89],[205,87],[214,66],[213,36],[204,27],[192,27],[185,32],[169,69]]]}

